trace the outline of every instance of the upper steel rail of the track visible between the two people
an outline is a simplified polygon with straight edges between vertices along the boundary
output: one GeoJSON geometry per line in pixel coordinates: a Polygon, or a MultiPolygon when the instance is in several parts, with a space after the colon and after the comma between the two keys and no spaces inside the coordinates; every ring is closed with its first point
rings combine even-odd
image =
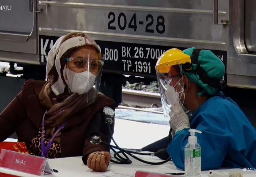
{"type": "Polygon", "coordinates": [[[123,103],[134,107],[161,107],[160,93],[123,89],[123,103]]]}

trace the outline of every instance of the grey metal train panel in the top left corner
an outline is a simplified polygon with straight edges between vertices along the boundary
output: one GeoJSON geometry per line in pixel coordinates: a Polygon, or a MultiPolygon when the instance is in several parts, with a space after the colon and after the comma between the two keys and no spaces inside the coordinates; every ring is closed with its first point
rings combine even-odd
{"type": "MultiPolygon", "coordinates": [[[[0,1],[0,53],[17,52],[17,59],[22,53],[37,53],[36,13],[29,12],[30,2],[31,0],[0,1]],[[9,6],[9,10],[3,10],[6,6],[9,6]]],[[[5,58],[5,61],[9,61],[9,58],[5,58]]]]}

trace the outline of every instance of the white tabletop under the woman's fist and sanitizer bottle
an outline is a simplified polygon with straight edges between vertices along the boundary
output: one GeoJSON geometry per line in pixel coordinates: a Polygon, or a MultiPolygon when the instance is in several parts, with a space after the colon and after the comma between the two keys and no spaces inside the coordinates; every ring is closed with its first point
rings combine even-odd
{"type": "MultiPolygon", "coordinates": [[[[148,160],[152,162],[161,161],[157,157],[151,156],[142,156],[137,155],[137,157],[141,157],[143,160],[148,160]]],[[[173,162],[166,163],[164,165],[147,165],[143,164],[133,158],[132,164],[130,165],[116,165],[110,164],[107,172],[93,172],[91,169],[88,169],[87,166],[83,165],[81,157],[69,157],[69,158],[58,158],[58,159],[50,159],[50,165],[52,168],[57,169],[59,172],[55,173],[57,177],[123,177],[121,174],[126,174],[125,177],[129,177],[133,175],[135,170],[142,171],[151,171],[151,172],[163,172],[163,173],[175,173],[175,172],[184,172],[179,171],[173,165],[173,162]]],[[[243,177],[256,177],[256,171],[245,171],[242,169],[220,169],[218,172],[222,171],[240,171],[243,174],[243,177]]],[[[36,177],[35,175],[25,174],[22,172],[11,171],[8,169],[0,168],[0,172],[19,175],[22,177],[36,177]]],[[[202,171],[202,177],[207,177],[208,171],[202,171]]]]}

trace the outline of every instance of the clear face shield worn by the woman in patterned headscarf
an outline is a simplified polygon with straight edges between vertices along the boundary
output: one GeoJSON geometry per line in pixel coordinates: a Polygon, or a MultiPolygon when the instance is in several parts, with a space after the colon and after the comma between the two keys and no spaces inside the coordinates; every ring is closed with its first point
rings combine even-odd
{"type": "Polygon", "coordinates": [[[70,92],[85,94],[88,102],[98,95],[104,65],[104,54],[88,52],[83,56],[66,58],[66,83],[70,92]]]}

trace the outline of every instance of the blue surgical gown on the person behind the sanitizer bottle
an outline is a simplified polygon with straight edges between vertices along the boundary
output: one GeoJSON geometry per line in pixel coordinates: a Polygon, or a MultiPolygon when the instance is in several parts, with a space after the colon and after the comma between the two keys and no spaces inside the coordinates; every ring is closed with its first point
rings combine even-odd
{"type": "MultiPolygon", "coordinates": [[[[201,146],[201,170],[227,168],[256,169],[256,129],[236,102],[223,95],[209,98],[189,119],[201,146]]],[[[184,147],[189,129],[175,133],[166,151],[174,165],[184,169],[184,147]]]]}

